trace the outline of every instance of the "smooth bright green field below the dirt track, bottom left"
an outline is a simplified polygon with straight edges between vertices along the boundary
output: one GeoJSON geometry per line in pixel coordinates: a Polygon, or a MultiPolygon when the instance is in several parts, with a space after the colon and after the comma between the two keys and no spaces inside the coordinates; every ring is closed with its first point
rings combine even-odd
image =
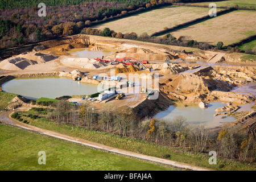
{"type": "Polygon", "coordinates": [[[177,170],[0,124],[0,170],[177,170]],[[38,152],[46,152],[46,165],[38,152]]]}

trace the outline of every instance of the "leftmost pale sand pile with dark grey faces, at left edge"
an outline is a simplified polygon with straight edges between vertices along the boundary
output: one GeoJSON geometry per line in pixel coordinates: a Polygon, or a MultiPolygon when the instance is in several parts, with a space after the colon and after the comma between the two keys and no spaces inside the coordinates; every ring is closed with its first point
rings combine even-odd
{"type": "Polygon", "coordinates": [[[34,64],[38,63],[36,61],[28,60],[22,57],[9,57],[0,63],[0,69],[20,71],[34,64]]]}

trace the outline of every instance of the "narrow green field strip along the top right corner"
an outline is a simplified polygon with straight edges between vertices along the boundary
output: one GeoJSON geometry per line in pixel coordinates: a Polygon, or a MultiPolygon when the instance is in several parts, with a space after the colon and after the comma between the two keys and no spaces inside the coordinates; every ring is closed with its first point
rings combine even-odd
{"type": "Polygon", "coordinates": [[[208,6],[210,3],[216,3],[217,7],[218,6],[233,7],[234,5],[238,5],[239,7],[256,8],[255,0],[230,0],[230,1],[217,1],[217,2],[199,2],[199,3],[192,3],[192,4],[208,6]]]}

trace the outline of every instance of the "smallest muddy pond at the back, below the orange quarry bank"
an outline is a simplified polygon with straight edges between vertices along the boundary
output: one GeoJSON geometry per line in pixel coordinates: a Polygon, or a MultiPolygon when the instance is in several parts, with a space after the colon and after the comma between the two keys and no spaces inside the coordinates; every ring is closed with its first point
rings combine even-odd
{"type": "Polygon", "coordinates": [[[108,56],[111,55],[112,53],[114,53],[113,51],[92,51],[89,48],[76,48],[76,49],[72,49],[71,51],[69,51],[69,53],[71,53],[72,55],[76,55],[77,57],[87,57],[87,58],[97,58],[100,57],[102,58],[102,56],[108,56]]]}

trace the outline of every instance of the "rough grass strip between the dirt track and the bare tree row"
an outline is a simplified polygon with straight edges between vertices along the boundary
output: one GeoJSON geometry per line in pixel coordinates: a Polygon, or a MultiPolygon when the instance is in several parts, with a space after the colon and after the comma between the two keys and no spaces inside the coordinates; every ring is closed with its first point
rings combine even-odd
{"type": "MultiPolygon", "coordinates": [[[[30,113],[27,111],[25,113],[30,113]]],[[[58,125],[56,122],[48,121],[47,119],[31,119],[28,117],[21,117],[27,120],[30,125],[40,127],[43,129],[56,131],[58,133],[66,134],[72,137],[86,139],[92,142],[105,144],[122,150],[139,152],[141,154],[156,156],[163,158],[165,155],[170,155],[170,160],[177,162],[183,162],[194,166],[210,168],[214,170],[255,170],[255,166],[247,166],[246,164],[223,158],[217,158],[217,165],[210,165],[208,163],[208,154],[184,152],[180,148],[161,146],[158,144],[135,140],[127,137],[120,137],[118,135],[112,135],[103,133],[100,131],[92,131],[85,129],[84,127],[77,127],[73,125],[58,125]],[[224,168],[219,168],[221,164],[225,164],[224,168]]]]}

